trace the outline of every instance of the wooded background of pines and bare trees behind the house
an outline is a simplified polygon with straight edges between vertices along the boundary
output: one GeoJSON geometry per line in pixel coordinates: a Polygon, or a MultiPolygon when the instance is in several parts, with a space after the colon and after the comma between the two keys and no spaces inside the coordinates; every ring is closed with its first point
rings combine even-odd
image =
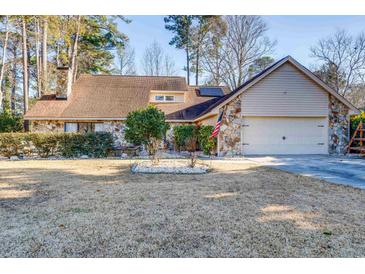
{"type": "MultiPolygon", "coordinates": [[[[176,75],[174,57],[146,41],[141,71],[119,26],[124,16],[0,16],[0,120],[21,117],[43,95],[65,94],[82,73],[176,75]]],[[[191,85],[232,90],[275,60],[260,16],[170,15],[170,45],[186,55],[191,85]]],[[[310,49],[312,71],[357,107],[365,106],[365,34],[337,30],[310,49]]],[[[0,123],[1,124],[1,123],[0,123]]]]}

